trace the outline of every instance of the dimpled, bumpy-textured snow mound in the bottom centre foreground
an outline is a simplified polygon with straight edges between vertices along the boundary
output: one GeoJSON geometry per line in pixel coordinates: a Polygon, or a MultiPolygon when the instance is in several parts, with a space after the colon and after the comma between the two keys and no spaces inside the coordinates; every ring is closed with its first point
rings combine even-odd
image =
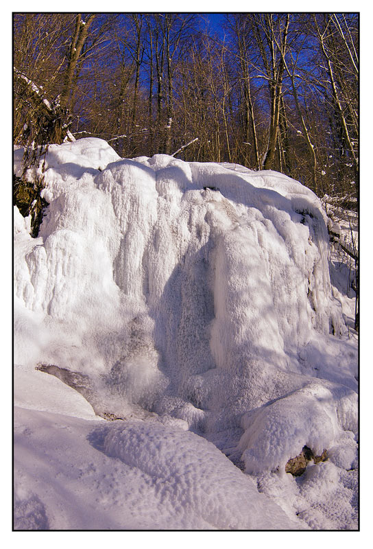
{"type": "Polygon", "coordinates": [[[158,423],[129,422],[109,430],[104,452],[156,478],[159,498],[169,513],[182,509],[189,527],[193,515],[219,529],[291,528],[277,506],[258,494],[217,448],[191,432],[158,423]],[[175,507],[175,503],[177,506],[175,507]]]}

